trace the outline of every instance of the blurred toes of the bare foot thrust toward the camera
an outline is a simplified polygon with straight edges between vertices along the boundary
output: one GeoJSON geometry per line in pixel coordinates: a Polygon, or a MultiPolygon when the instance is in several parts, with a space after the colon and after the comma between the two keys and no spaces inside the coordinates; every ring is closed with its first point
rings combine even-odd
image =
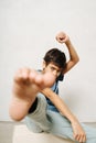
{"type": "Polygon", "coordinates": [[[51,73],[42,74],[33,69],[22,68],[17,72],[14,82],[21,86],[35,85],[39,89],[43,89],[55,82],[55,76],[51,73]]]}

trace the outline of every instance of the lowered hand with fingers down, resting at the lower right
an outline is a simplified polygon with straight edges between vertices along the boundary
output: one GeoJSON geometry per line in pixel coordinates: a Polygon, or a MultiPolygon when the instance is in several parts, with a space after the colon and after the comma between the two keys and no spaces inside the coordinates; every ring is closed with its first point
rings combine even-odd
{"type": "Polygon", "coordinates": [[[78,122],[72,123],[72,128],[74,132],[74,139],[79,143],[86,142],[86,134],[81,124],[78,122]]]}

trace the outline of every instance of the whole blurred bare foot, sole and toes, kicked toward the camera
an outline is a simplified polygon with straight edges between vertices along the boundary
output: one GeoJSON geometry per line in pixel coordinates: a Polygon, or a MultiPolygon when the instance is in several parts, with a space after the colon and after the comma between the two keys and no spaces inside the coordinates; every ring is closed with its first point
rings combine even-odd
{"type": "Polygon", "coordinates": [[[39,91],[51,87],[55,77],[51,74],[39,74],[29,68],[19,69],[13,80],[13,97],[10,103],[9,113],[13,120],[22,120],[39,91]]]}

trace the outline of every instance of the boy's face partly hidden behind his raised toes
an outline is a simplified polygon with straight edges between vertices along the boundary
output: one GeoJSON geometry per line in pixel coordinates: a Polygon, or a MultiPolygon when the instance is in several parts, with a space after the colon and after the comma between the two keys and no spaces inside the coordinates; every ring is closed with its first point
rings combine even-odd
{"type": "Polygon", "coordinates": [[[54,65],[53,63],[50,63],[49,65],[46,65],[44,62],[43,63],[43,72],[44,73],[50,72],[57,78],[60,76],[60,74],[62,73],[62,68],[54,65]]]}

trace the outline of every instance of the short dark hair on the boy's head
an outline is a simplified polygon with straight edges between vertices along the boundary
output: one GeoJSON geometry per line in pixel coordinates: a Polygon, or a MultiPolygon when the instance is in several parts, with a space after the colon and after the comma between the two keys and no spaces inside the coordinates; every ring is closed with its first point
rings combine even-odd
{"type": "Polygon", "coordinates": [[[45,61],[46,65],[53,63],[54,65],[63,69],[66,66],[65,53],[57,48],[51,48],[50,51],[47,51],[43,59],[45,61]]]}

